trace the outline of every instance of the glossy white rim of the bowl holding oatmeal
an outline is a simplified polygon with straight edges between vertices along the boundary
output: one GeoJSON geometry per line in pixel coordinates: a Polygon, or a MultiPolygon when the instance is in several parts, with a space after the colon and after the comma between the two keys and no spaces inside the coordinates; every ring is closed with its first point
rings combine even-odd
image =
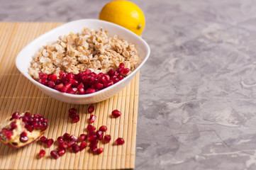
{"type": "MultiPolygon", "coordinates": [[[[101,21],[101,20],[99,20],[99,19],[86,18],[86,19],[79,19],[79,20],[75,20],[75,21],[71,21],[71,22],[64,23],[64,24],[62,24],[61,26],[57,26],[56,28],[53,28],[52,30],[49,30],[49,31],[46,32],[46,33],[43,33],[42,35],[38,36],[38,38],[35,38],[35,39],[32,40],[31,42],[29,42],[29,43],[26,45],[26,47],[23,47],[23,49],[18,53],[18,55],[17,55],[17,57],[16,57],[16,67],[17,67],[17,69],[19,70],[19,72],[21,72],[21,74],[23,74],[25,77],[27,77],[30,81],[32,81],[34,84],[36,84],[36,85],[42,87],[43,89],[47,89],[47,90],[52,91],[53,93],[61,94],[61,95],[63,95],[63,96],[72,97],[72,98],[89,98],[89,97],[92,97],[92,96],[96,96],[97,94],[104,93],[105,91],[108,91],[108,90],[110,90],[110,89],[112,89],[112,88],[118,86],[118,84],[123,83],[124,81],[122,81],[122,80],[121,80],[121,81],[118,81],[116,84],[113,84],[113,85],[111,85],[111,86],[108,86],[107,88],[101,89],[100,91],[96,91],[96,92],[94,92],[94,93],[92,93],[92,94],[79,94],[79,95],[77,95],[77,94],[67,94],[67,93],[62,93],[62,92],[60,92],[60,91],[57,91],[57,90],[55,90],[55,89],[51,89],[50,87],[45,86],[45,85],[43,85],[43,84],[40,84],[38,81],[35,81],[35,79],[33,79],[32,77],[30,77],[29,74],[26,75],[26,73],[24,73],[23,70],[19,68],[18,58],[19,58],[20,53],[21,53],[23,50],[26,50],[31,44],[33,44],[33,42],[42,39],[43,37],[45,37],[45,36],[47,36],[48,34],[50,34],[52,31],[58,30],[58,29],[60,29],[60,28],[62,28],[62,27],[65,27],[67,24],[75,23],[75,22],[79,22],[79,21],[89,21],[89,22],[92,21],[92,22],[106,23],[106,24],[111,25],[111,26],[114,26],[114,27],[116,27],[116,28],[118,28],[118,29],[125,30],[126,32],[128,32],[129,34],[135,36],[135,38],[137,38],[137,39],[139,39],[141,42],[143,42],[143,45],[145,45],[145,48],[147,49],[147,50],[146,50],[145,58],[144,58],[143,61],[140,62],[140,64],[138,65],[138,67],[137,67],[135,70],[133,70],[133,72],[131,72],[127,77],[125,77],[125,79],[129,79],[129,77],[135,76],[135,75],[133,75],[133,74],[137,73],[138,70],[140,69],[140,67],[142,67],[143,64],[145,64],[145,62],[148,60],[148,57],[150,56],[150,47],[149,47],[148,43],[145,42],[145,40],[143,40],[143,38],[141,38],[140,36],[136,35],[136,34],[133,33],[132,31],[130,31],[130,30],[128,30],[128,29],[126,29],[126,28],[124,28],[124,27],[122,27],[122,26],[118,26],[118,25],[115,24],[115,23],[111,23],[111,22],[108,22],[108,21],[101,21]],[[28,77],[28,76],[29,76],[29,77],[28,77]]],[[[31,62],[31,60],[30,60],[30,62],[31,62]]]]}

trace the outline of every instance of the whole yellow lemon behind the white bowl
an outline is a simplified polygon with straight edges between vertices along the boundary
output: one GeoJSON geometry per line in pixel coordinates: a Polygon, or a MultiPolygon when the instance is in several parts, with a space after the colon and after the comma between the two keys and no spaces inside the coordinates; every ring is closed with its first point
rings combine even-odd
{"type": "Polygon", "coordinates": [[[145,27],[143,11],[130,1],[111,1],[99,13],[99,19],[116,23],[140,35],[145,27]]]}

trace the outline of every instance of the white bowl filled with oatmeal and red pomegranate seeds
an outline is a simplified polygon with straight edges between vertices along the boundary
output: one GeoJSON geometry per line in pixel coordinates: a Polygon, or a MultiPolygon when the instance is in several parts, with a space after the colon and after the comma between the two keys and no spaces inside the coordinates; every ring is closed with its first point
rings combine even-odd
{"type": "Polygon", "coordinates": [[[104,101],[126,87],[149,55],[147,42],[130,30],[82,19],[30,42],[18,53],[16,67],[46,95],[67,103],[89,104],[104,101]],[[88,81],[91,87],[81,84],[88,81]]]}

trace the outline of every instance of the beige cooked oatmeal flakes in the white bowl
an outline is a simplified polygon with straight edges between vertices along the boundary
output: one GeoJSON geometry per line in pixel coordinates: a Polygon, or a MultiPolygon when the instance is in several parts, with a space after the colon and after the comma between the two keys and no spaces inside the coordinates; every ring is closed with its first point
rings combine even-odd
{"type": "Polygon", "coordinates": [[[60,71],[78,74],[86,69],[106,73],[123,62],[132,72],[139,62],[135,45],[119,39],[108,38],[103,28],[99,31],[84,28],[82,33],[69,33],[59,40],[42,47],[35,53],[28,74],[39,79],[38,74],[59,74],[60,71]]]}

